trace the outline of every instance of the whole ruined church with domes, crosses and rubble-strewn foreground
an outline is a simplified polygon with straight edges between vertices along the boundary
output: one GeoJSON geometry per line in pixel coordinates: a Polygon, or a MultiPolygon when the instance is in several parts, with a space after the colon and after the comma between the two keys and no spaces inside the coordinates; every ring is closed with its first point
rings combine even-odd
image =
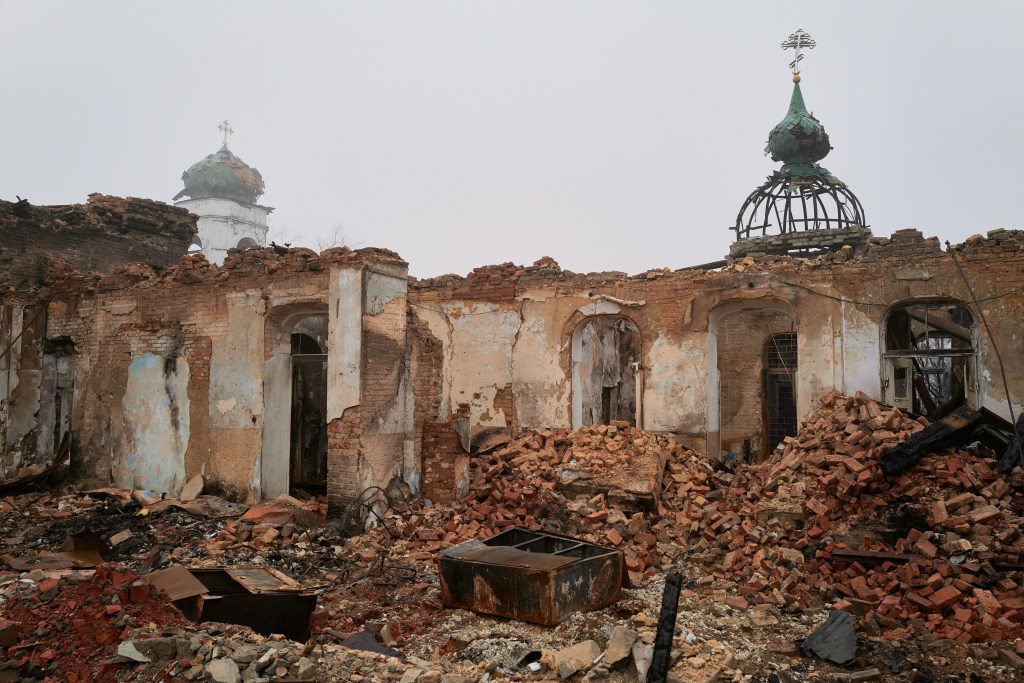
{"type": "Polygon", "coordinates": [[[226,121],[0,202],[0,683],[1024,680],[1024,231],[876,234],[782,46],[714,263],[267,246],[226,121]]]}

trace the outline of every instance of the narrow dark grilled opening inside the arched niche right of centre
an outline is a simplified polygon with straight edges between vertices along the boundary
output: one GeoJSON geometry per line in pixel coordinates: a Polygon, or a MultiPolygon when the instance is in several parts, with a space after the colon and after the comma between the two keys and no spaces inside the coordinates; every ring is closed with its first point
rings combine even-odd
{"type": "Polygon", "coordinates": [[[765,443],[773,449],[797,434],[797,334],[768,337],[761,367],[765,443]]]}

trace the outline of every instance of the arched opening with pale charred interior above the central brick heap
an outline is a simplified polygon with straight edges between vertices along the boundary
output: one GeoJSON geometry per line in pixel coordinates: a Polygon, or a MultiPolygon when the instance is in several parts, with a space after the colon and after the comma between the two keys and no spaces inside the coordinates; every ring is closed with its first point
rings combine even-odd
{"type": "Polygon", "coordinates": [[[572,427],[637,424],[640,330],[623,315],[595,315],[572,332],[572,427]]]}

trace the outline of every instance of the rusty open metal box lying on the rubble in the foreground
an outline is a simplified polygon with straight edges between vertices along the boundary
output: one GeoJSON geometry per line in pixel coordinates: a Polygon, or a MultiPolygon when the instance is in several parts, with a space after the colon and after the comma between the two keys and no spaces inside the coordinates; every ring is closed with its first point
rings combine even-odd
{"type": "Polygon", "coordinates": [[[622,551],[521,526],[443,550],[437,563],[445,606],[545,626],[623,592],[622,551]]]}

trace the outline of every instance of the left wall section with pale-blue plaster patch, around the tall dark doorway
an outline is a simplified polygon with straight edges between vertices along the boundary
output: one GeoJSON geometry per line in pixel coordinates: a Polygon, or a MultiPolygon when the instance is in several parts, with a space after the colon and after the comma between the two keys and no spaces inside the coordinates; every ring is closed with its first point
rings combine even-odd
{"type": "MultiPolygon", "coordinates": [[[[386,485],[391,473],[409,470],[416,482],[415,458],[407,447],[412,442],[406,417],[411,401],[398,400],[402,384],[396,370],[408,343],[404,268],[403,261],[383,250],[337,249],[316,255],[309,250],[278,254],[251,249],[228,256],[219,268],[195,256],[161,273],[132,264],[109,275],[76,276],[50,302],[46,335],[74,344],[75,366],[66,374],[74,377],[75,404],[68,414],[73,458],[80,459],[86,480],[106,484],[131,479],[176,493],[182,478],[203,471],[207,482],[219,485],[227,496],[258,498],[264,493],[264,455],[272,451],[276,434],[284,436],[285,446],[273,454],[276,461],[269,461],[284,464],[284,475],[275,482],[287,492],[288,353],[276,375],[273,362],[280,359],[279,348],[289,347],[289,335],[279,329],[280,316],[274,316],[313,306],[319,314],[334,313],[328,355],[333,368],[341,370],[334,375],[336,421],[360,405],[366,369],[379,371],[371,378],[374,382],[368,380],[372,389],[384,387],[389,392],[391,402],[367,416],[367,420],[380,417],[376,435],[387,434],[392,441],[378,449],[387,455],[388,467],[381,469],[380,477],[371,473],[366,478],[382,479],[386,485]],[[395,264],[394,272],[390,264],[395,264]],[[364,330],[362,278],[368,265],[388,280],[373,286],[373,297],[366,303],[379,314],[366,318],[387,318],[385,327],[391,332],[364,330]],[[371,332],[387,337],[395,352],[380,361],[371,357],[365,348],[371,332]],[[170,418],[160,416],[169,409],[159,402],[165,394],[153,390],[155,380],[146,375],[147,369],[132,365],[151,355],[175,358],[177,364],[171,386],[179,399],[178,429],[188,430],[177,433],[180,447],[168,445],[170,418]],[[390,384],[383,381],[386,373],[391,373],[390,384]],[[283,411],[272,410],[275,391],[286,396],[283,411]],[[282,415],[284,426],[275,428],[282,415]],[[153,450],[172,457],[156,473],[153,450]]],[[[24,380],[27,374],[19,376],[24,380]]],[[[48,386],[42,381],[33,384],[48,386]]],[[[48,419],[44,412],[40,416],[48,419]]],[[[357,436],[367,425],[361,414],[352,416],[350,428],[357,436]]],[[[351,461],[358,467],[364,446],[358,438],[352,444],[351,461]]],[[[368,457],[368,467],[380,462],[372,454],[368,457]]],[[[348,480],[354,487],[360,477],[355,472],[348,480]]]]}

